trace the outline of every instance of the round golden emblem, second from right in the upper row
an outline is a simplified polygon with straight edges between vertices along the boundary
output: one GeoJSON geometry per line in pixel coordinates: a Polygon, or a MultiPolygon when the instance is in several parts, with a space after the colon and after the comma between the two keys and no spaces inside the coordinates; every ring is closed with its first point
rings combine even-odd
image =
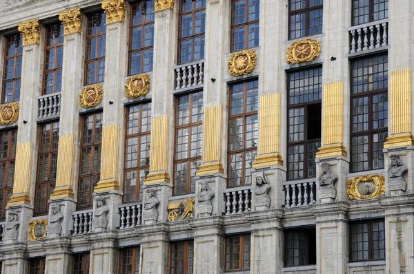
{"type": "Polygon", "coordinates": [[[228,60],[228,73],[233,76],[241,76],[253,72],[257,64],[255,50],[242,50],[231,54],[228,60]]]}

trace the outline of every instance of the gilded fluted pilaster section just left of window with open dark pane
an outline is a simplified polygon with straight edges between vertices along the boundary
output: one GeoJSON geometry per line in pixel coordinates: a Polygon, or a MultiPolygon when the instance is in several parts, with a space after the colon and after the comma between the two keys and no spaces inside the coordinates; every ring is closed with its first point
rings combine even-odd
{"type": "Polygon", "coordinates": [[[283,165],[280,155],[281,96],[278,93],[259,97],[259,155],[253,167],[283,165]]]}

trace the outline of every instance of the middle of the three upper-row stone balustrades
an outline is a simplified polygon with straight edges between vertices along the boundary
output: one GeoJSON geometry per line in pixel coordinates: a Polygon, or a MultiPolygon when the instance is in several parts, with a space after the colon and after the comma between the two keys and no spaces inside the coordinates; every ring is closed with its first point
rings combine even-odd
{"type": "Polygon", "coordinates": [[[204,84],[204,60],[178,65],[175,71],[175,90],[204,84]]]}

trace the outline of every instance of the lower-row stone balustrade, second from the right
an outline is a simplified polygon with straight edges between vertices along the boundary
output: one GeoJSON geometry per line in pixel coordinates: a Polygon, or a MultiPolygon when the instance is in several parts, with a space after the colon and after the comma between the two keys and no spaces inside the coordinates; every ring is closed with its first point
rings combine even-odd
{"type": "Polygon", "coordinates": [[[250,211],[252,207],[252,187],[226,189],[226,192],[224,192],[224,200],[226,201],[226,212],[224,215],[233,215],[250,211]]]}

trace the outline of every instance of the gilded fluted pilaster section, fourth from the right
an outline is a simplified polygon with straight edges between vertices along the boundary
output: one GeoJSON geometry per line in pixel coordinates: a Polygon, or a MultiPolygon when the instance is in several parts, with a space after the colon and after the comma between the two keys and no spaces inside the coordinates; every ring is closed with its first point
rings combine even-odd
{"type": "Polygon", "coordinates": [[[221,131],[223,128],[223,107],[213,105],[204,108],[203,121],[203,163],[197,171],[197,176],[211,173],[223,173],[221,162],[221,131]]]}

